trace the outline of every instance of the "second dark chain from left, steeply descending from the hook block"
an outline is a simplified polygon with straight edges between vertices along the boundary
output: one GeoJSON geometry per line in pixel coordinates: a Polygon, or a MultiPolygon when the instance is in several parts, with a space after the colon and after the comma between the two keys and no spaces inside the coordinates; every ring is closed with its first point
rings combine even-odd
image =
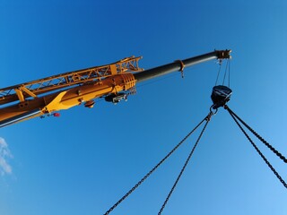
{"type": "MultiPolygon", "coordinates": [[[[212,113],[212,112],[211,112],[211,113],[212,113]]],[[[212,116],[212,115],[210,115],[210,116],[212,116]]],[[[174,189],[175,189],[176,186],[178,185],[178,181],[179,181],[180,177],[182,176],[183,172],[184,172],[185,169],[187,168],[187,164],[188,164],[188,162],[189,162],[191,156],[193,155],[194,151],[196,150],[196,146],[197,146],[198,142],[200,141],[200,139],[201,139],[201,137],[202,137],[202,135],[203,135],[203,133],[204,133],[204,130],[205,130],[207,124],[208,124],[209,121],[210,121],[210,116],[209,116],[209,118],[206,120],[206,123],[205,123],[205,125],[204,125],[203,130],[202,130],[202,132],[199,134],[199,136],[198,136],[198,138],[197,138],[197,140],[196,140],[196,144],[194,145],[194,147],[193,147],[192,150],[190,151],[190,153],[189,153],[189,155],[188,155],[188,157],[187,157],[187,160],[186,160],[186,162],[185,162],[183,168],[181,169],[181,171],[180,171],[180,173],[179,173],[179,175],[178,175],[177,180],[175,181],[174,185],[171,187],[170,193],[168,194],[166,200],[163,202],[163,204],[162,204],[162,206],[161,206],[161,210],[159,211],[158,215],[161,215],[161,212],[164,210],[164,208],[165,208],[167,202],[169,202],[169,200],[170,200],[171,194],[173,193],[174,189]]]]}

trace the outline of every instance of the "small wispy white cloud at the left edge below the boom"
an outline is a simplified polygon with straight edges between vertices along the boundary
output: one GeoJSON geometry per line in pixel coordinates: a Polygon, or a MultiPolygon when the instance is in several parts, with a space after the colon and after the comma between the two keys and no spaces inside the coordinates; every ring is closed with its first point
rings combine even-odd
{"type": "Polygon", "coordinates": [[[13,159],[13,155],[8,149],[8,144],[4,138],[0,137],[0,175],[12,174],[12,167],[8,164],[8,159],[13,159]]]}

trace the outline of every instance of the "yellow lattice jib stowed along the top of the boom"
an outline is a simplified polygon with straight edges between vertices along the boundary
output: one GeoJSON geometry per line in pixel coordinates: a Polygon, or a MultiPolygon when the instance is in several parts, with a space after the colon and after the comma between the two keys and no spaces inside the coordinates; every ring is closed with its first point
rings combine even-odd
{"type": "Polygon", "coordinates": [[[13,101],[24,101],[27,98],[37,97],[39,94],[54,90],[67,89],[73,85],[97,82],[118,73],[137,73],[143,71],[138,61],[142,57],[126,57],[114,64],[95,66],[69,73],[61,73],[32,82],[25,82],[11,87],[0,89],[0,105],[13,101]]]}

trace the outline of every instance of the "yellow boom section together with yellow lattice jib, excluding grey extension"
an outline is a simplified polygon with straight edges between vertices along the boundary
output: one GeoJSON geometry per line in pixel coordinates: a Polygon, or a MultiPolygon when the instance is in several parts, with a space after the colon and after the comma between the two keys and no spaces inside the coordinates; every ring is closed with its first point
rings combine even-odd
{"type": "Polygon", "coordinates": [[[114,64],[62,73],[0,89],[0,122],[34,110],[40,111],[39,114],[21,120],[23,121],[78,106],[109,93],[132,89],[135,87],[133,73],[143,71],[138,66],[141,58],[126,57],[114,64]]]}

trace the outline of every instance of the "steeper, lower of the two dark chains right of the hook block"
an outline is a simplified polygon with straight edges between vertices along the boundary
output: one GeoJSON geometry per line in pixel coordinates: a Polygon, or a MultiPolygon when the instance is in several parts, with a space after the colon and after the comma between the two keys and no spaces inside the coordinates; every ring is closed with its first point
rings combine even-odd
{"type": "Polygon", "coordinates": [[[245,132],[245,130],[243,129],[243,127],[239,124],[239,121],[236,119],[236,116],[233,116],[232,112],[230,111],[230,108],[225,106],[225,108],[229,111],[230,116],[232,116],[233,120],[235,121],[235,123],[237,125],[239,125],[240,130],[242,131],[242,133],[245,134],[245,136],[248,138],[248,141],[252,144],[252,146],[255,148],[255,150],[257,150],[257,153],[260,155],[260,157],[262,159],[264,159],[265,163],[267,164],[267,166],[274,172],[274,175],[277,176],[277,178],[280,180],[280,182],[283,184],[283,186],[285,188],[287,188],[287,184],[286,182],[283,180],[283,178],[279,175],[279,173],[275,170],[275,168],[270,164],[270,162],[265,158],[265,156],[263,155],[263,153],[257,148],[257,145],[251,140],[251,138],[248,136],[248,133],[245,132]]]}

